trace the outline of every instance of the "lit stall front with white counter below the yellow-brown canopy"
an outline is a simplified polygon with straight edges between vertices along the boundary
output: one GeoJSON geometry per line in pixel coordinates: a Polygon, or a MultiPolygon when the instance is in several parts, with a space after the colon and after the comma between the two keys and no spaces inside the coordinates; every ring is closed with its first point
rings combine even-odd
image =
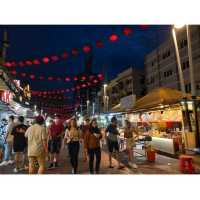
{"type": "Polygon", "coordinates": [[[152,147],[160,152],[175,155],[183,151],[183,123],[180,107],[131,113],[127,118],[137,127],[141,137],[152,137],[152,147]]]}

